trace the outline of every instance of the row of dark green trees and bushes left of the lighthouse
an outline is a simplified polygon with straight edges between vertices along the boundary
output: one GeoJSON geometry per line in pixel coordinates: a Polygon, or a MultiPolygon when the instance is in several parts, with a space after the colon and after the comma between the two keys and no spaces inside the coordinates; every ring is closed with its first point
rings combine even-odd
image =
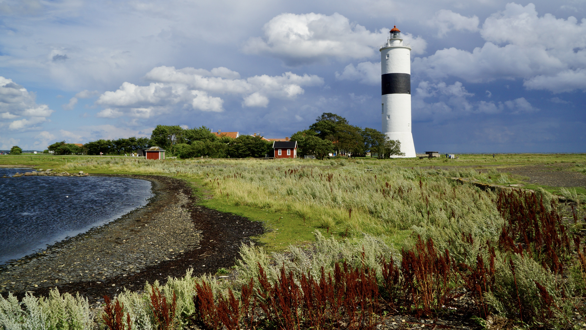
{"type": "MultiPolygon", "coordinates": [[[[367,152],[377,154],[379,158],[403,155],[398,140],[389,140],[376,129],[353,126],[344,117],[335,113],[323,113],[308,129],[292,134],[291,140],[297,141],[299,157],[312,155],[323,159],[330,153],[339,156],[365,156],[367,152]]],[[[205,126],[183,129],[179,125],[157,125],[150,139],[101,139],[88,142],[83,147],[62,141],[51,144],[46,152],[51,150],[55,154],[128,154],[151,146],[165,149],[167,156],[180,158],[260,158],[267,154],[272,156],[272,142],[261,136],[241,135],[234,139],[217,136],[205,126]]]]}

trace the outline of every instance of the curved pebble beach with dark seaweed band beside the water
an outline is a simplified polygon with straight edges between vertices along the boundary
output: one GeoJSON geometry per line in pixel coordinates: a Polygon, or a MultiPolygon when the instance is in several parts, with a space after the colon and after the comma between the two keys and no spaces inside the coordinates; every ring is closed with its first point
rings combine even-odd
{"type": "Polygon", "coordinates": [[[185,181],[166,176],[92,174],[153,182],[147,205],[45,250],[0,267],[0,293],[46,295],[50,289],[80,292],[90,304],[122,288],[165,282],[228,268],[241,244],[264,233],[258,221],[199,206],[185,181]],[[205,243],[204,243],[205,242],[205,243]],[[200,244],[202,243],[202,244],[200,244]],[[15,265],[16,264],[16,265],[15,265]],[[7,267],[10,265],[11,267],[7,267]]]}

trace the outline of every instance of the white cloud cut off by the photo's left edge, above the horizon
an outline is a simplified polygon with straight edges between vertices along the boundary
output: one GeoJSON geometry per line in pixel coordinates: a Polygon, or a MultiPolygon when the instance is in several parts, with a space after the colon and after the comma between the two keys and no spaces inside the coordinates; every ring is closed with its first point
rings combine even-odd
{"type": "Polygon", "coordinates": [[[47,105],[38,105],[35,93],[16,84],[12,79],[0,76],[0,127],[11,130],[35,128],[47,121],[53,110],[47,105]]]}

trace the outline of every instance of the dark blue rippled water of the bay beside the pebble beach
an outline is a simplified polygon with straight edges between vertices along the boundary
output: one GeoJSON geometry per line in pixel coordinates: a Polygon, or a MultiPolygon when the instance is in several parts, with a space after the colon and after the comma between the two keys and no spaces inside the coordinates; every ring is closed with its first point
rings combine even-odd
{"type": "Polygon", "coordinates": [[[0,264],[147,204],[151,182],[125,177],[19,177],[0,168],[0,264]]]}

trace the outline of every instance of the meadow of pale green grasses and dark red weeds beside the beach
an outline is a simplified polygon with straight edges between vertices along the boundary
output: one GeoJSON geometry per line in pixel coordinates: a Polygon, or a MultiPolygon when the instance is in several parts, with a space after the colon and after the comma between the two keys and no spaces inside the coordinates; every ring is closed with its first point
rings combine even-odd
{"type": "MultiPolygon", "coordinates": [[[[493,192],[452,178],[507,186],[520,180],[496,167],[567,162],[580,171],[584,161],[584,155],[75,157],[59,169],[174,176],[202,196],[213,196],[203,204],[253,219],[266,214],[274,229],[267,234],[271,239],[258,238],[264,246],[241,248],[236,280],[188,272],[118,295],[106,304],[102,321],[95,320],[110,329],[374,328],[394,312],[449,314],[462,288],[472,295],[472,313],[479,318],[499,315],[521,327],[571,328],[571,314],[583,311],[586,287],[586,244],[576,213],[568,214],[543,188],[493,192]],[[281,243],[299,242],[293,231],[304,241],[312,236],[313,248],[293,244],[284,251],[281,243]]],[[[583,207],[579,190],[560,191],[583,207]]],[[[20,320],[11,321],[21,325],[14,329],[41,317],[29,312],[28,303],[21,312],[15,304],[10,297],[0,301],[0,315],[20,315],[10,318],[20,320]]],[[[1,317],[8,316],[0,316],[0,324],[1,317]]]]}

